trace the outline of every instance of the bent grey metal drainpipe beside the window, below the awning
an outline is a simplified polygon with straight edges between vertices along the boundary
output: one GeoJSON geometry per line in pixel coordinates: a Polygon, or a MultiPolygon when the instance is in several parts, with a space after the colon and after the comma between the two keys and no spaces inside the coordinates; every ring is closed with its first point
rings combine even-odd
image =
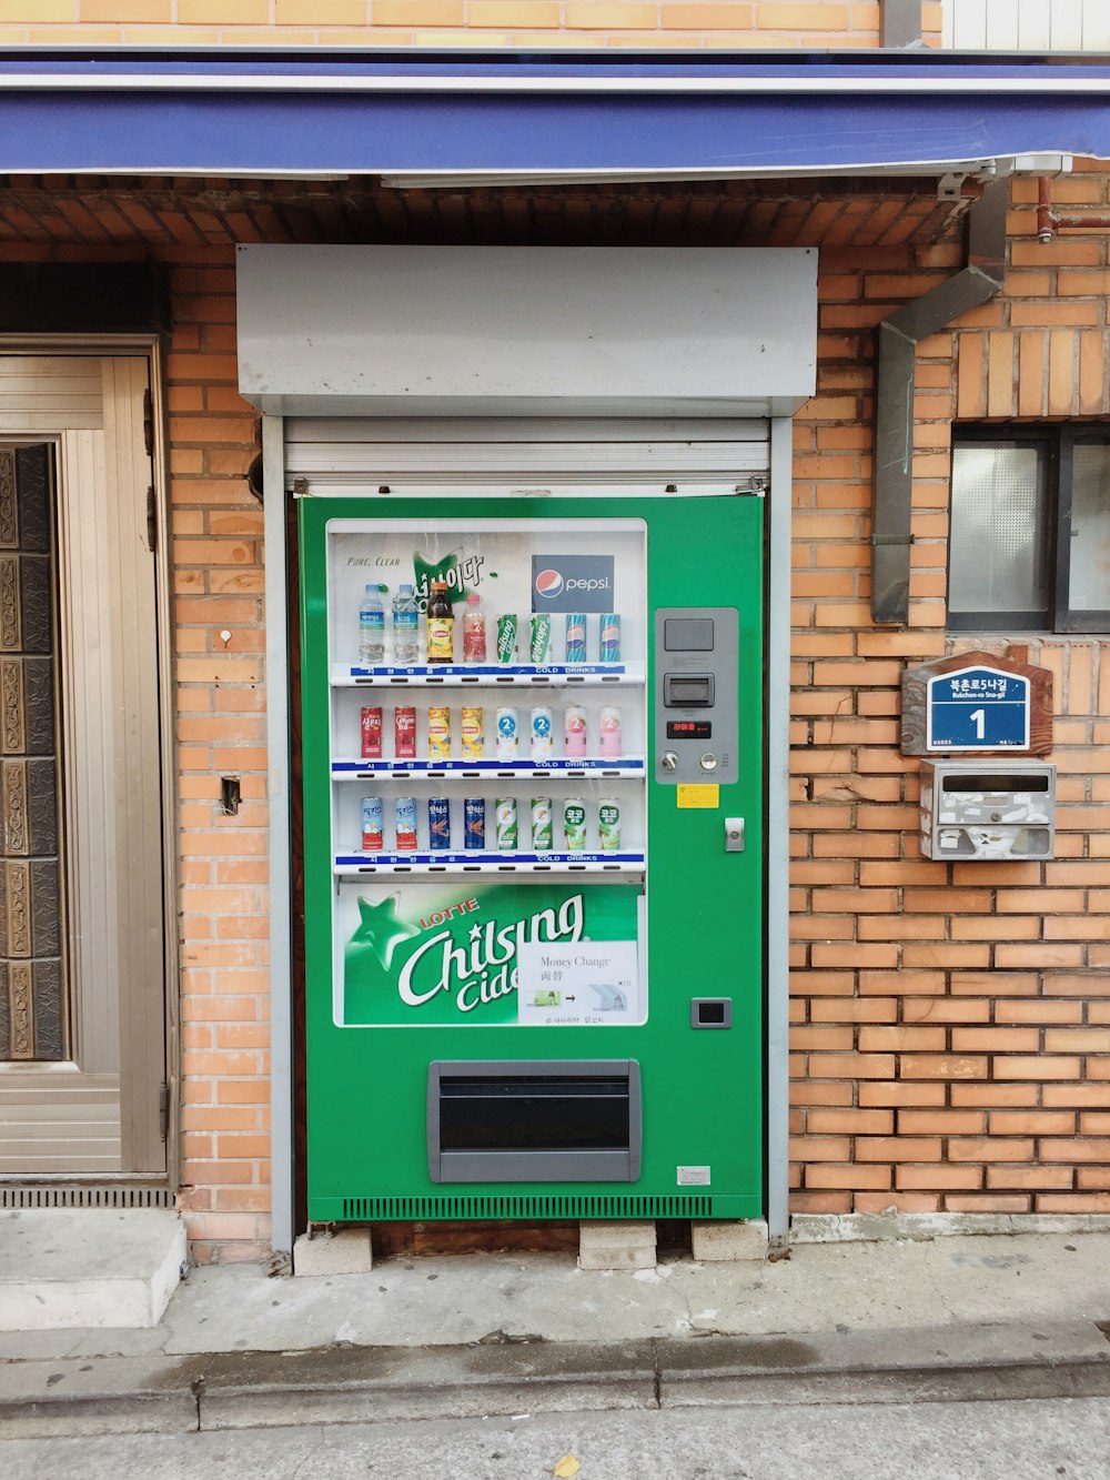
{"type": "Polygon", "coordinates": [[[990,181],[968,213],[965,265],[879,324],[872,502],[872,617],[906,626],[913,512],[913,370],[918,343],[1002,292],[1009,181],[990,181]]]}

